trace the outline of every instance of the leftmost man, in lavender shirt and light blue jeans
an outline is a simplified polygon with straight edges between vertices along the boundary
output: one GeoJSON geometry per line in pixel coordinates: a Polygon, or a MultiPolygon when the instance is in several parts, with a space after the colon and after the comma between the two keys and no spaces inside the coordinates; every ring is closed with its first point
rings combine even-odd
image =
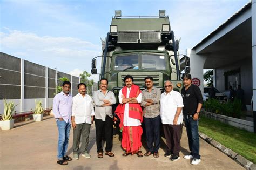
{"type": "Polygon", "coordinates": [[[70,88],[71,83],[64,81],[62,84],[62,92],[55,95],[52,105],[52,111],[59,131],[57,163],[60,165],[68,165],[67,161],[72,160],[72,158],[66,155],[69,144],[72,113],[72,95],[69,93],[70,88]]]}

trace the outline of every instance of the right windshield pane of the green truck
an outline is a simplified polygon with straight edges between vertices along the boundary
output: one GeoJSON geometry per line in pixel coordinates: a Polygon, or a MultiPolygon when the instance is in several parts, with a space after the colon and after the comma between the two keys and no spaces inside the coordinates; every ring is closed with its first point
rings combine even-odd
{"type": "Polygon", "coordinates": [[[165,56],[164,55],[142,55],[142,69],[147,70],[165,70],[165,56]]]}

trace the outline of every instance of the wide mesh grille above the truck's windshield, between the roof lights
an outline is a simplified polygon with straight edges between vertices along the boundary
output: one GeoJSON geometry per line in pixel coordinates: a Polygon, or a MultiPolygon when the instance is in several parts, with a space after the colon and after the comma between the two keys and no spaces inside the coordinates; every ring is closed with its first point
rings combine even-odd
{"type": "Polygon", "coordinates": [[[161,42],[161,31],[119,31],[118,43],[161,42]]]}

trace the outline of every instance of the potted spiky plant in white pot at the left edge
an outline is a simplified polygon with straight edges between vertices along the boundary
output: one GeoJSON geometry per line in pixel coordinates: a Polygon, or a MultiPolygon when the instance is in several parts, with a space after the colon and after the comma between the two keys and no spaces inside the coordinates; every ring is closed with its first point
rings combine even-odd
{"type": "Polygon", "coordinates": [[[2,115],[1,121],[2,130],[10,130],[11,128],[14,128],[14,119],[12,119],[12,113],[17,105],[14,105],[13,101],[7,103],[6,99],[4,99],[4,114],[2,115]]]}

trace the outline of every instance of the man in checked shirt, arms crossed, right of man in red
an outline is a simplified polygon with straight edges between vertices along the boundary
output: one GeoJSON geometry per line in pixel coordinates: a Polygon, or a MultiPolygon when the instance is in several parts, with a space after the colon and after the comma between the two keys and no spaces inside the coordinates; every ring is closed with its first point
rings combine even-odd
{"type": "Polygon", "coordinates": [[[143,121],[146,129],[147,152],[146,157],[153,154],[154,158],[159,157],[158,150],[160,148],[160,97],[161,90],[154,87],[153,77],[145,77],[146,89],[142,91],[142,103],[144,107],[143,121]],[[154,144],[154,145],[153,145],[154,144]]]}

